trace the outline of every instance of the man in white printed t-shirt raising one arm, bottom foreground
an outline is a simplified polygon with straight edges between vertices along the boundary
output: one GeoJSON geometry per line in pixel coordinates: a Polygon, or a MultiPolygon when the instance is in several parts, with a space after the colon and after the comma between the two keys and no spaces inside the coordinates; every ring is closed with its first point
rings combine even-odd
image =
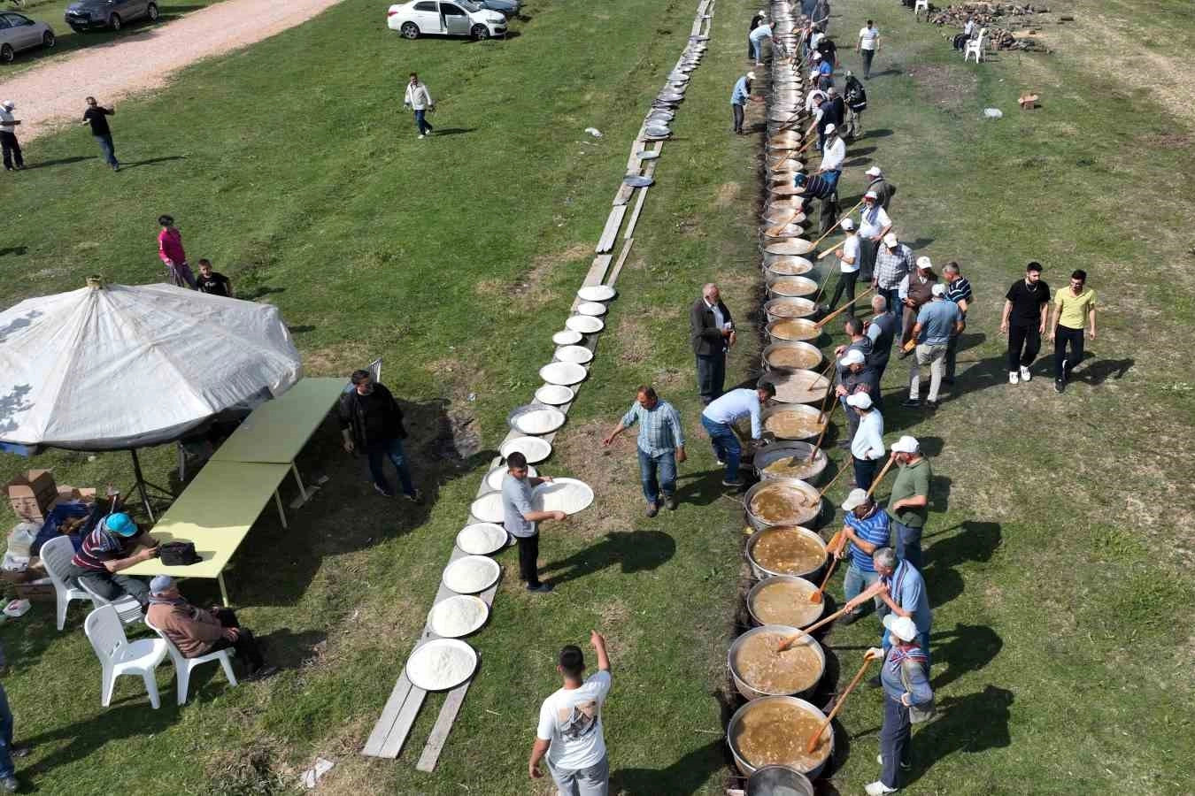
{"type": "Polygon", "coordinates": [[[590,631],[589,643],[598,654],[598,673],[582,680],[586,659],[569,644],[560,650],[556,666],[564,675],[564,687],[544,701],[539,709],[535,743],[527,761],[527,773],[540,779],[539,761],[547,754],[547,770],[562,796],[607,796],[609,759],[602,735],[601,709],[609,695],[609,658],[606,640],[590,631]]]}

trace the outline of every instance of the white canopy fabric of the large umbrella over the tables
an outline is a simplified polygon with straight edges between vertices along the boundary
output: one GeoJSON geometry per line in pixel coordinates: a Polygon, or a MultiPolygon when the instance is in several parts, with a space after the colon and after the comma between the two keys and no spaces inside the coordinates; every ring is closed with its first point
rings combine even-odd
{"type": "Polygon", "coordinates": [[[269,304],[165,284],[30,298],[0,313],[0,440],[155,445],[301,372],[269,304]]]}

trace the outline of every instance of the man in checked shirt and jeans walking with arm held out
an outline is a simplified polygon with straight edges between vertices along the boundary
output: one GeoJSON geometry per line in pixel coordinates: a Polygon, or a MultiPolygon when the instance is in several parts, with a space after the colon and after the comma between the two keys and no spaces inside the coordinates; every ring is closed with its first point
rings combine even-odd
{"type": "Polygon", "coordinates": [[[635,396],[635,403],[602,440],[602,445],[608,446],[614,437],[636,424],[639,425],[639,480],[648,501],[648,517],[660,513],[661,493],[668,511],[675,511],[676,463],[685,461],[685,432],[681,431],[680,414],[672,403],[661,401],[654,388],[643,385],[635,396]]]}

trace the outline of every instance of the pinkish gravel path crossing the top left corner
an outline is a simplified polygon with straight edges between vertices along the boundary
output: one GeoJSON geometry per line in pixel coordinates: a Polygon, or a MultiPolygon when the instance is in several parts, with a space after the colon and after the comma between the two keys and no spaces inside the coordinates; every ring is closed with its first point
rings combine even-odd
{"type": "Polygon", "coordinates": [[[159,88],[170,74],[208,56],[259,42],[307,21],[339,0],[226,0],[112,44],[82,49],[0,84],[17,103],[22,141],[82,117],[84,97],[109,105],[159,88]]]}

